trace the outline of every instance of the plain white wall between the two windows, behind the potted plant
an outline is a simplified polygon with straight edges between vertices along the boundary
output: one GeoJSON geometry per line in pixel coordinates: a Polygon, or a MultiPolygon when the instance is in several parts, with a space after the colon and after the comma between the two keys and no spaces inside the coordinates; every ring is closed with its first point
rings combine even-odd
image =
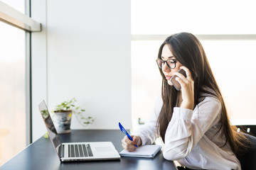
{"type": "MultiPolygon", "coordinates": [[[[130,1],[44,1],[45,16],[38,16],[44,13],[42,3],[31,2],[31,17],[47,30],[33,33],[36,40],[34,35],[46,35],[46,43],[32,41],[33,60],[44,58],[32,71],[33,140],[46,132],[37,119],[39,98],[53,110],[75,97],[96,118],[89,129],[117,129],[119,121],[131,128],[130,1]]],[[[72,128],[82,128],[75,117],[72,128]]]]}

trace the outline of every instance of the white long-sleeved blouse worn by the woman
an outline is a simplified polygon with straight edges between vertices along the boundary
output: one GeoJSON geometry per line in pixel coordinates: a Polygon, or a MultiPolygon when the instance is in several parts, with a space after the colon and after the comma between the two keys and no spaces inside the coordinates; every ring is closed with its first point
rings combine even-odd
{"type": "MultiPolygon", "coordinates": [[[[162,106],[160,94],[149,120],[134,132],[141,137],[142,145],[152,144],[159,137],[156,123],[162,106]]],[[[240,162],[230,146],[223,147],[225,136],[220,134],[218,123],[220,111],[221,103],[213,96],[207,96],[193,111],[175,107],[166,129],[164,158],[190,169],[240,170],[240,162]]]]}

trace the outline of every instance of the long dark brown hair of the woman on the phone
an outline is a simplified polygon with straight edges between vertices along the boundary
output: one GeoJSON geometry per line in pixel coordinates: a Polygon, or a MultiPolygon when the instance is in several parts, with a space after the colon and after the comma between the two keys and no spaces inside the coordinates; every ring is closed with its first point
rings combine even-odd
{"type": "MultiPolygon", "coordinates": [[[[210,69],[210,64],[203,50],[201,42],[191,33],[178,33],[166,38],[164,43],[159,48],[158,58],[161,58],[161,53],[164,45],[168,45],[176,60],[191,71],[191,76],[194,81],[194,108],[203,101],[206,96],[215,96],[221,103],[220,130],[225,135],[225,145],[228,143],[235,154],[239,152],[241,147],[246,147],[246,138],[244,135],[236,132],[236,127],[230,125],[227,109],[223,101],[223,96],[220,93],[217,82],[210,69]],[[212,89],[214,92],[207,91],[206,88],[212,89]],[[202,94],[205,94],[202,96],[202,94]]],[[[164,76],[164,73],[159,69],[162,76],[161,97],[164,105],[158,118],[159,135],[164,141],[166,128],[171,120],[174,107],[178,105],[178,92],[174,86],[170,86],[164,76]]]]}

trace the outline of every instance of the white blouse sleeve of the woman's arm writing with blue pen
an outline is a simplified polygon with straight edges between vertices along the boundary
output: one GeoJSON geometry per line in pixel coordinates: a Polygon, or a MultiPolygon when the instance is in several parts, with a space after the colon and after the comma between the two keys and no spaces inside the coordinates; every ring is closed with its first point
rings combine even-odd
{"type": "Polygon", "coordinates": [[[157,120],[162,106],[163,101],[161,99],[161,93],[159,93],[159,96],[154,106],[154,110],[151,113],[149,119],[146,120],[145,125],[142,125],[139,130],[133,133],[133,135],[141,137],[142,145],[150,145],[156,140],[157,137],[159,137],[157,120]]]}

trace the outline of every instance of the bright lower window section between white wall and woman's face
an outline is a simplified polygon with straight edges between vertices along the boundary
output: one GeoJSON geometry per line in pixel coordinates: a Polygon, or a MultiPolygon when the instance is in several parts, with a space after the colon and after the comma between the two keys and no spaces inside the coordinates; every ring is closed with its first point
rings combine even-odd
{"type": "Polygon", "coordinates": [[[132,127],[149,116],[161,92],[156,57],[162,41],[132,41],[132,127]]]}

